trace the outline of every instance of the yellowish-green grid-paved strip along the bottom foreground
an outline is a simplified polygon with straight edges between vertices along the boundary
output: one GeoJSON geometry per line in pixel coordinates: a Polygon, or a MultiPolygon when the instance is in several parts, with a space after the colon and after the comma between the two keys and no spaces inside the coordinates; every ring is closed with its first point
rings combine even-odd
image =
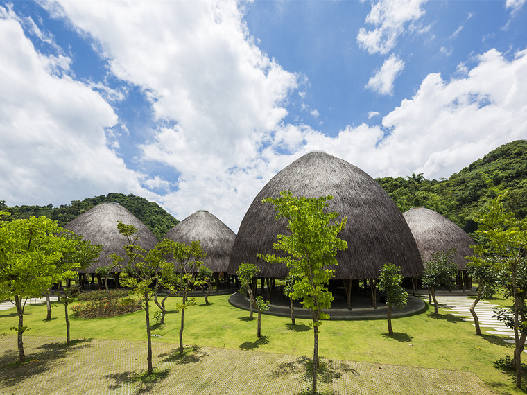
{"type": "MultiPolygon", "coordinates": [[[[141,383],[146,342],[24,337],[28,362],[15,367],[15,335],[0,335],[0,394],[302,394],[306,357],[154,342],[153,383],[141,383]]],[[[325,394],[492,394],[466,371],[333,360],[319,379],[325,394]]]]}

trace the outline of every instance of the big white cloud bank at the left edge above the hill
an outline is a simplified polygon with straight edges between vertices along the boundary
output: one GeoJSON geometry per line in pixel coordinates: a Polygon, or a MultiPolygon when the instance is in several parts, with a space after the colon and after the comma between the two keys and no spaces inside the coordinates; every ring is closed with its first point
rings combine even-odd
{"type": "Polygon", "coordinates": [[[143,176],[106,146],[105,128],[117,122],[112,107],[87,85],[53,72],[69,59],[35,51],[20,19],[1,6],[0,37],[1,198],[56,204],[116,189],[147,194],[139,186],[143,176]]]}

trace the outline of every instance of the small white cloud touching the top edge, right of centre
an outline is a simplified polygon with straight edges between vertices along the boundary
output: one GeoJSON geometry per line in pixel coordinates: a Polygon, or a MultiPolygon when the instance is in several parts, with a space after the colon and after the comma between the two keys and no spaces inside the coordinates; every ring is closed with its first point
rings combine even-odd
{"type": "MultiPolygon", "coordinates": [[[[417,21],[424,11],[421,9],[426,0],[379,0],[372,3],[372,10],[366,17],[366,23],[374,26],[373,30],[360,28],[357,42],[368,53],[386,54],[397,44],[397,38],[404,33],[408,22],[417,21]]],[[[416,28],[426,32],[429,28],[416,28]]]]}

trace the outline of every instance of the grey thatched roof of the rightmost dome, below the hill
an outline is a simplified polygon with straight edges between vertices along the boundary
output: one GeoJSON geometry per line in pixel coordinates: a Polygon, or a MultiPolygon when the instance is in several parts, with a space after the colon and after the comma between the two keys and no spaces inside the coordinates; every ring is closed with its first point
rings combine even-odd
{"type": "Polygon", "coordinates": [[[412,231],[423,262],[430,261],[434,252],[455,248],[454,261],[460,270],[465,269],[465,256],[474,255],[474,250],[469,246],[476,243],[463,229],[440,213],[424,207],[409,209],[403,216],[412,231]]]}

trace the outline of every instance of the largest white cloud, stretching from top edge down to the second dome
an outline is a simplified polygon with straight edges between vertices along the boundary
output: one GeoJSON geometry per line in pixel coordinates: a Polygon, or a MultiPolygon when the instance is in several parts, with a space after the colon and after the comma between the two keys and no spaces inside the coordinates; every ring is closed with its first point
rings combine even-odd
{"type": "Polygon", "coordinates": [[[236,1],[60,1],[49,9],[93,37],[112,73],[141,87],[159,124],[170,125],[140,144],[143,161],[180,174],[164,206],[179,219],[209,209],[237,229],[228,221],[270,175],[274,159],[259,151],[281,128],[299,76],[255,45],[236,1]]]}

